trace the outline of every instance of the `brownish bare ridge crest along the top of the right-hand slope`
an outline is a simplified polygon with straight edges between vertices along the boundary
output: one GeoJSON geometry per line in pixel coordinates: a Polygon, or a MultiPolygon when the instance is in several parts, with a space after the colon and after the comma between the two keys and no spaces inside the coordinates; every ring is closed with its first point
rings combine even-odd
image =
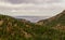
{"type": "Polygon", "coordinates": [[[47,19],[41,19],[41,21],[39,21],[39,22],[37,22],[37,23],[38,23],[38,24],[42,23],[42,25],[43,25],[43,24],[46,24],[47,22],[52,22],[52,21],[54,21],[54,19],[60,18],[60,17],[63,16],[63,15],[65,15],[65,10],[64,10],[63,12],[61,12],[60,14],[55,15],[55,16],[52,16],[52,17],[47,18],[47,19]]]}

